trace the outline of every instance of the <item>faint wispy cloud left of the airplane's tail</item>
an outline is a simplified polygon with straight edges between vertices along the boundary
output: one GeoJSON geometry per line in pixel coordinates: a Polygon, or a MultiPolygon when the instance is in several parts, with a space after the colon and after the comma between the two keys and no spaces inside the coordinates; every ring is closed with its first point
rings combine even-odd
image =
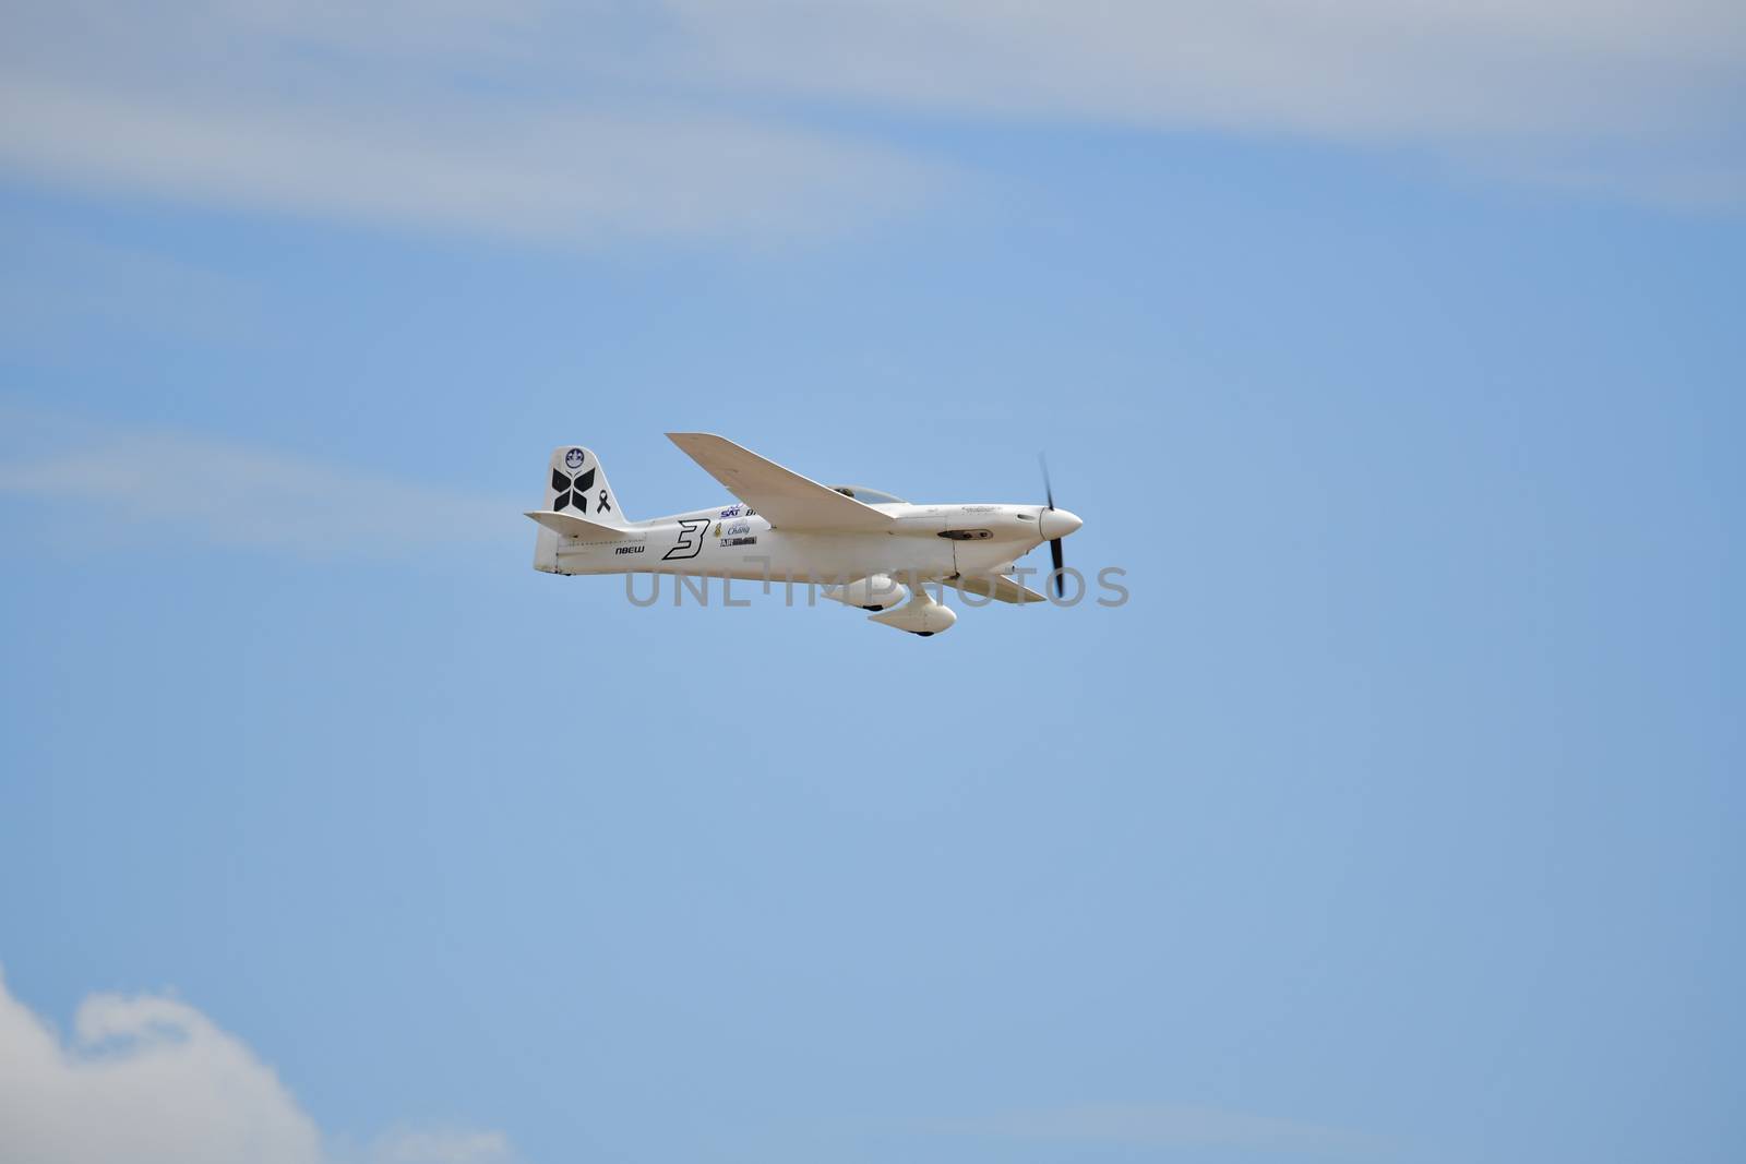
{"type": "Polygon", "coordinates": [[[402,557],[510,536],[512,499],[360,473],[166,429],[38,424],[54,452],[0,452],[0,494],[77,511],[82,531],[253,546],[297,557],[402,557]]]}

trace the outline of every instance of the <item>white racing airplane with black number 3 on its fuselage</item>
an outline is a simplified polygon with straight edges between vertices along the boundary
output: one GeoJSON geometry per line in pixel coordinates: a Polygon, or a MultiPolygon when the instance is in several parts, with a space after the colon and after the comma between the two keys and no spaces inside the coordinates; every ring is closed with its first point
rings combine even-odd
{"type": "Polygon", "coordinates": [[[1062,537],[1081,522],[1055,508],[1048,469],[1042,506],[910,504],[859,485],[821,485],[711,433],[667,436],[739,501],[632,522],[599,457],[560,445],[552,452],[545,506],[527,515],[540,524],[536,571],[822,583],[828,599],[925,637],[957,621],[925,583],[1000,602],[1046,602],[1007,574],[1048,541],[1062,597],[1062,537]]]}

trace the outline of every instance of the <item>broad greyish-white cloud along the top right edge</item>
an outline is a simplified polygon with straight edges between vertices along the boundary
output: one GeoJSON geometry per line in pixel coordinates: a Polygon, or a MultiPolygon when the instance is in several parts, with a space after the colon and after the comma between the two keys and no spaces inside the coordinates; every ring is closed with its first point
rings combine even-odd
{"type": "Polygon", "coordinates": [[[1014,117],[1514,138],[1739,120],[1727,0],[674,0],[747,86],[1014,117]]]}

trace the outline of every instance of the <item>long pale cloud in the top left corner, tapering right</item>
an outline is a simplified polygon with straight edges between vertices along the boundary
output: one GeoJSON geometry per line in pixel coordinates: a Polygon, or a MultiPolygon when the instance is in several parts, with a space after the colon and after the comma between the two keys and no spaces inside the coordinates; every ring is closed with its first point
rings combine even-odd
{"type": "Polygon", "coordinates": [[[627,72],[615,5],[9,5],[0,166],[96,188],[517,239],[789,239],[938,168],[627,72]]]}

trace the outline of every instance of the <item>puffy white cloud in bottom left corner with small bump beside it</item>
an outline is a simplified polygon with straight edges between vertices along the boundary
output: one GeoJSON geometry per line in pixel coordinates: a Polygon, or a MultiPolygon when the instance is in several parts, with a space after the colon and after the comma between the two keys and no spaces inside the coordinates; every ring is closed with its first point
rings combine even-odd
{"type": "MultiPolygon", "coordinates": [[[[0,1155],[30,1164],[344,1164],[271,1066],[175,998],[91,995],[72,1038],[0,979],[0,1155]]],[[[510,1164],[501,1133],[400,1131],[367,1164],[510,1164]]]]}

